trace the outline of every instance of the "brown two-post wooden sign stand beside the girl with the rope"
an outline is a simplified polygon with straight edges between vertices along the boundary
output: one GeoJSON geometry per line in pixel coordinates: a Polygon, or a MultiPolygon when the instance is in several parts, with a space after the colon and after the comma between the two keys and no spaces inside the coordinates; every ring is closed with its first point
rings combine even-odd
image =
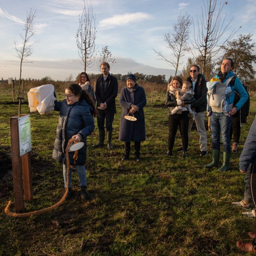
{"type": "MultiPolygon", "coordinates": [[[[23,117],[28,116],[29,118],[29,115],[20,115],[20,117],[22,116],[23,117]]],[[[16,212],[20,212],[24,210],[24,198],[25,200],[28,200],[28,201],[31,201],[33,199],[30,148],[24,150],[22,148],[22,145],[20,145],[20,141],[24,142],[24,140],[26,144],[26,138],[30,136],[30,123],[29,123],[29,131],[27,131],[27,129],[25,128],[20,133],[20,129],[19,129],[20,117],[17,117],[17,116],[10,117],[12,173],[13,173],[16,212]],[[26,134],[26,133],[29,133],[29,134],[26,134]],[[21,134],[22,134],[22,138],[20,138],[21,134]]],[[[20,124],[20,125],[23,125],[23,124],[20,124]]],[[[26,123],[24,125],[26,125],[26,123]]]]}

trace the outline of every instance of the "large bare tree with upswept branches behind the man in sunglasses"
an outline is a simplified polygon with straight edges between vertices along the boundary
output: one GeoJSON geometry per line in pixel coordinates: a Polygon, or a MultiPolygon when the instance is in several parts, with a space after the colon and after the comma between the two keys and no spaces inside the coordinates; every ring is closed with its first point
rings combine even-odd
{"type": "Polygon", "coordinates": [[[226,16],[222,18],[222,9],[224,5],[227,5],[227,1],[216,9],[218,0],[204,0],[204,7],[202,7],[201,16],[197,16],[197,33],[195,32],[194,24],[194,41],[192,41],[192,46],[195,52],[193,55],[202,62],[202,73],[205,72],[205,66],[207,61],[207,56],[211,55],[211,61],[215,62],[214,58],[227,44],[227,41],[232,38],[237,30],[232,30],[232,32],[223,39],[226,32],[230,29],[230,23],[233,21],[233,17],[229,22],[225,22],[226,16]],[[207,6],[206,6],[207,3],[207,6]],[[199,54],[198,54],[199,53],[199,54]]]}

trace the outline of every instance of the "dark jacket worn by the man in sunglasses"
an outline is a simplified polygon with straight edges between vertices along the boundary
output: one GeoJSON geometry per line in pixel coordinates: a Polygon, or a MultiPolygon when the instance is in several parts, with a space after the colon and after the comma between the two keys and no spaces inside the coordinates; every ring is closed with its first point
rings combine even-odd
{"type": "MultiPolygon", "coordinates": [[[[191,76],[187,78],[187,81],[189,81],[192,84],[191,76]]],[[[193,89],[192,85],[191,85],[191,88],[193,89]]],[[[195,103],[191,104],[191,108],[195,108],[196,113],[206,111],[207,87],[206,87],[206,80],[203,74],[198,74],[198,79],[195,83],[194,93],[195,93],[194,95],[195,103]]]]}

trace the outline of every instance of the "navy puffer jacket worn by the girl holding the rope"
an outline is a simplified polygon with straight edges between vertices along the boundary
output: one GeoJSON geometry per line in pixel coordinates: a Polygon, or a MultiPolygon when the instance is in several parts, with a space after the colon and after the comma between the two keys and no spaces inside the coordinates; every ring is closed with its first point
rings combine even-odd
{"type": "Polygon", "coordinates": [[[62,102],[55,101],[54,109],[60,111],[57,126],[57,135],[54,142],[52,157],[59,163],[66,164],[66,147],[73,135],[79,134],[84,146],[78,151],[78,159],[74,163],[74,152],[69,153],[70,165],[84,165],[86,160],[86,138],[94,130],[92,107],[85,99],[67,105],[66,99],[62,102]]]}

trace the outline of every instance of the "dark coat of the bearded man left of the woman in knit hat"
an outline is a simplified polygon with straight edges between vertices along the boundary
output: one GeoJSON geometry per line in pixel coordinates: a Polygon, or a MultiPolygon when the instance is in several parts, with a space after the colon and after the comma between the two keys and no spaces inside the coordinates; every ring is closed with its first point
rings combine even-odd
{"type": "Polygon", "coordinates": [[[106,79],[105,90],[103,88],[103,75],[99,76],[96,80],[95,96],[97,99],[97,107],[101,103],[106,103],[108,108],[106,108],[106,115],[113,115],[116,113],[116,96],[118,93],[118,81],[114,76],[108,74],[106,79]]]}

